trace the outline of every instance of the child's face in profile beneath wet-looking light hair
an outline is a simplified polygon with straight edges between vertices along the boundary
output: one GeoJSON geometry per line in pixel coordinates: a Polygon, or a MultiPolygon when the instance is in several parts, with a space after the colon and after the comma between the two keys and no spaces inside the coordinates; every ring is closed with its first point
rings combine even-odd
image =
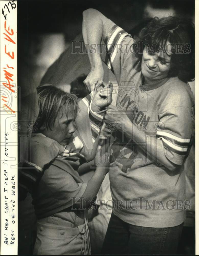
{"type": "Polygon", "coordinates": [[[75,132],[74,121],[75,117],[73,108],[70,107],[67,110],[66,116],[66,108],[63,107],[63,109],[59,111],[54,125],[51,125],[51,129],[47,129],[46,127],[43,127],[42,129],[41,127],[41,130],[46,137],[49,137],[65,146],[71,142],[71,136],[75,132]]]}

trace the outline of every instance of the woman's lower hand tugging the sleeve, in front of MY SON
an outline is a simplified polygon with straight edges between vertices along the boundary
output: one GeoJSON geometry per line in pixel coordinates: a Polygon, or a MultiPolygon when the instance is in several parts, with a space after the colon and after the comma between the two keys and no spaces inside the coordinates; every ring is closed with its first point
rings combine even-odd
{"type": "Polygon", "coordinates": [[[130,121],[125,111],[118,111],[118,109],[113,105],[108,106],[104,120],[107,126],[110,126],[111,122],[117,123],[121,131],[123,131],[124,124],[130,121]]]}

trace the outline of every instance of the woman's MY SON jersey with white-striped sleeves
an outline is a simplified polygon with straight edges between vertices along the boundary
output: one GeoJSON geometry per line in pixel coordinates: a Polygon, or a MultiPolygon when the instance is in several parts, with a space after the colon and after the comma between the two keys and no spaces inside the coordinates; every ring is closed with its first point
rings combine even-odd
{"type": "Polygon", "coordinates": [[[115,116],[128,118],[145,132],[145,142],[134,142],[112,127],[110,188],[113,213],[132,225],[172,227],[180,225],[189,208],[185,201],[184,161],[194,136],[194,98],[188,84],[177,77],[143,84],[141,61],[135,41],[111,20],[103,26],[106,52],[102,60],[115,74],[118,92],[115,116]],[[156,138],[162,150],[157,152],[156,138]],[[139,144],[145,146],[141,150],[139,144]],[[147,151],[154,151],[149,156],[147,151]],[[161,153],[162,152],[162,153],[161,153]],[[164,154],[175,171],[157,161],[164,154]],[[157,157],[156,157],[157,156],[157,157]]]}

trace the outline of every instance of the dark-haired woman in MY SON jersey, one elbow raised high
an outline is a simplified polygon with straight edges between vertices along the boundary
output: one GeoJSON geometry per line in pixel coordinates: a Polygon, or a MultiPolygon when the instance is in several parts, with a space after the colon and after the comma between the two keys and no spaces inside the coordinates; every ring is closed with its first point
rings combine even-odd
{"type": "Polygon", "coordinates": [[[86,86],[102,83],[102,61],[118,82],[116,106],[105,115],[115,126],[109,171],[114,208],[102,253],[175,254],[190,207],[184,161],[194,136],[187,84],[194,79],[194,27],[176,17],[154,18],[135,41],[88,9],[83,36],[91,63],[86,86]],[[102,56],[91,45],[101,42],[102,56]]]}

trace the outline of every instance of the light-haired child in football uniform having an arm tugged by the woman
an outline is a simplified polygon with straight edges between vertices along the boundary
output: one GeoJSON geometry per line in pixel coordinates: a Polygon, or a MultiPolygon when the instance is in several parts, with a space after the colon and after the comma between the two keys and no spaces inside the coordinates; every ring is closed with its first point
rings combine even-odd
{"type": "Polygon", "coordinates": [[[104,93],[84,98],[86,105],[80,102],[81,122],[75,95],[51,85],[37,89],[38,127],[31,138],[31,159],[26,163],[27,169],[21,170],[19,180],[20,187],[32,193],[37,216],[33,254],[90,254],[87,210],[109,170],[105,145],[99,151],[106,161],[99,161],[99,152],[95,156],[99,129],[91,126],[95,117],[99,123],[102,116],[91,107],[97,111],[110,104],[109,86],[110,93],[106,88],[104,93]],[[97,169],[84,183],[77,169],[94,156],[97,169]]]}

